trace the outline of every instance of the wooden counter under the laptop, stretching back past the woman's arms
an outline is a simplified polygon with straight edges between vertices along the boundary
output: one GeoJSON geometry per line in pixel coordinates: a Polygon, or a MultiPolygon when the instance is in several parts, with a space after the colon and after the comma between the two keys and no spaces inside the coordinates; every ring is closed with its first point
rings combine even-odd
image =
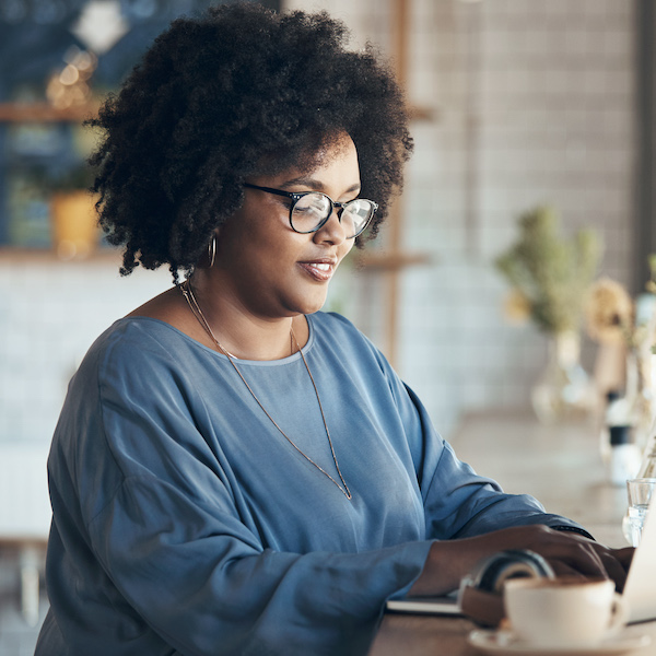
{"type": "MultiPolygon", "coordinates": [[[[460,459],[506,492],[532,494],[548,512],[575,519],[598,541],[626,544],[621,530],[626,491],[607,482],[593,422],[544,426],[529,413],[481,412],[467,415],[449,442],[460,459]]],[[[388,613],[370,656],[475,656],[479,652],[467,644],[473,629],[464,618],[388,613]]],[[[652,636],[652,645],[636,656],[656,655],[656,622],[628,632],[652,636]]]]}

